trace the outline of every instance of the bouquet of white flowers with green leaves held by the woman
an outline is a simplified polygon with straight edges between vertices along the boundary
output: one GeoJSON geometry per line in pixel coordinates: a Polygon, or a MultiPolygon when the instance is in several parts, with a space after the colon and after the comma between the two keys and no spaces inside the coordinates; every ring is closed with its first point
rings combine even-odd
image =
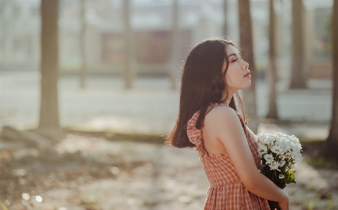
{"type": "MultiPolygon", "coordinates": [[[[285,188],[294,181],[294,167],[301,158],[301,144],[295,136],[285,133],[259,133],[259,157],[261,166],[259,171],[280,188],[285,188]]],[[[268,201],[271,209],[278,208],[278,202],[268,201]]]]}

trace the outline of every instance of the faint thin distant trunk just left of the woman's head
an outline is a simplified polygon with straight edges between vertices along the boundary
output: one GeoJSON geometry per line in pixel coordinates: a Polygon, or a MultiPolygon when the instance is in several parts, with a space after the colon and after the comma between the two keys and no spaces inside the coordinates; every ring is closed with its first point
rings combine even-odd
{"type": "Polygon", "coordinates": [[[171,28],[171,41],[172,41],[172,51],[171,51],[171,66],[172,70],[170,73],[171,79],[171,89],[176,89],[176,75],[179,72],[179,60],[181,58],[181,48],[180,48],[180,37],[178,29],[178,14],[179,14],[178,0],[174,0],[172,7],[172,28],[171,28]]]}

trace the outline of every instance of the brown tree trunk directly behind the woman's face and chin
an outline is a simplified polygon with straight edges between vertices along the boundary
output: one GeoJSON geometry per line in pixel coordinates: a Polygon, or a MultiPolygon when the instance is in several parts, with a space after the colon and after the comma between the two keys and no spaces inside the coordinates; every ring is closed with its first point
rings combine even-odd
{"type": "Polygon", "coordinates": [[[243,90],[245,112],[249,118],[249,128],[257,132],[258,119],[256,117],[256,70],[254,67],[254,47],[252,44],[252,20],[250,15],[249,0],[238,0],[238,11],[240,21],[240,48],[242,57],[249,63],[249,70],[252,75],[252,82],[249,88],[243,90]]]}

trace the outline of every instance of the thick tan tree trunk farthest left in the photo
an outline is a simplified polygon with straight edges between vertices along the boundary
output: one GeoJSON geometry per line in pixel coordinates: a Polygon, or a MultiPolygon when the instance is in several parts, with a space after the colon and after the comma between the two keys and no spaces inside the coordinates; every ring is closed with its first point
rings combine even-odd
{"type": "Polygon", "coordinates": [[[41,0],[41,106],[39,128],[59,128],[58,0],[41,0]]]}

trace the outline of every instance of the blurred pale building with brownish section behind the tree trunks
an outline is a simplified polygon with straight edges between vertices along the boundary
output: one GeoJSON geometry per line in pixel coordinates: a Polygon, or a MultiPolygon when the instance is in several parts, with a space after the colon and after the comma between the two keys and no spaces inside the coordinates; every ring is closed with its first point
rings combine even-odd
{"type": "MultiPolygon", "coordinates": [[[[310,77],[330,77],[330,17],[332,0],[304,1],[306,4],[306,52],[310,77]]],[[[39,0],[1,1],[1,70],[39,70],[40,15],[39,0]]],[[[131,0],[131,31],[134,53],[133,71],[137,74],[167,74],[176,53],[184,60],[191,46],[207,37],[226,34],[238,44],[238,6],[228,0],[179,0],[178,44],[172,52],[173,1],[131,0]]],[[[268,63],[268,1],[252,0],[254,53],[256,67],[264,74],[268,63]]],[[[91,73],[120,73],[124,63],[123,0],[60,0],[60,68],[78,72],[82,66],[80,33],[84,29],[86,67],[91,73]],[[84,4],[85,15],[81,9],[84,4]],[[84,28],[83,28],[84,27],[84,28]]],[[[278,76],[290,77],[291,32],[290,0],[275,1],[277,16],[278,76]]],[[[245,50],[245,46],[240,46],[245,50]]],[[[181,66],[183,63],[179,63],[181,66]]],[[[179,69],[176,70],[180,71],[179,69]]]]}

